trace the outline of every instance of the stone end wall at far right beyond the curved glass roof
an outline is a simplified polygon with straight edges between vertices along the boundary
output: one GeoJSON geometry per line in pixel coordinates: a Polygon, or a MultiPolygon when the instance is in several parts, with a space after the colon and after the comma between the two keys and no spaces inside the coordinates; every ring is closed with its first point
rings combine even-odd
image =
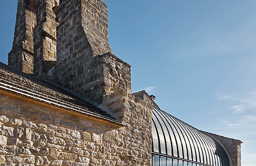
{"type": "Polygon", "coordinates": [[[218,140],[224,148],[227,150],[232,166],[241,166],[241,141],[232,138],[223,137],[220,135],[205,132],[207,135],[211,135],[218,140]]]}

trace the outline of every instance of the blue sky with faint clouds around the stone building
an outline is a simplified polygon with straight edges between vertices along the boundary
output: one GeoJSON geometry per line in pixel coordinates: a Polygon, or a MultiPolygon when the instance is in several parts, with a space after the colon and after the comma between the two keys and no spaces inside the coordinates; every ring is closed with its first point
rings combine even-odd
{"type": "MultiPolygon", "coordinates": [[[[256,0],[105,0],[109,42],[129,63],[132,91],[198,129],[242,140],[256,165],[256,0]]],[[[17,0],[0,6],[0,61],[12,47],[17,0]]]]}

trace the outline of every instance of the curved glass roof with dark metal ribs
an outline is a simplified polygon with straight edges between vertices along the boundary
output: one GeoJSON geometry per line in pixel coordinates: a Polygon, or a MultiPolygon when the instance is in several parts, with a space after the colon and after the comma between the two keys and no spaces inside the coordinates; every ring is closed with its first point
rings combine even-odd
{"type": "Polygon", "coordinates": [[[225,149],[212,137],[154,107],[152,153],[207,166],[230,166],[225,149]]]}

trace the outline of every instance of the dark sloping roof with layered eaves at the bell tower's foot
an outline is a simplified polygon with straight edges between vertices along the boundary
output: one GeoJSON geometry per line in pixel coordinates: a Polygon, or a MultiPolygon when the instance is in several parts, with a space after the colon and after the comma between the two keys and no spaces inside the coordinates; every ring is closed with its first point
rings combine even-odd
{"type": "Polygon", "coordinates": [[[122,125],[120,121],[110,114],[81,99],[78,95],[67,92],[51,83],[39,80],[32,75],[18,72],[1,62],[0,89],[122,125]]]}

